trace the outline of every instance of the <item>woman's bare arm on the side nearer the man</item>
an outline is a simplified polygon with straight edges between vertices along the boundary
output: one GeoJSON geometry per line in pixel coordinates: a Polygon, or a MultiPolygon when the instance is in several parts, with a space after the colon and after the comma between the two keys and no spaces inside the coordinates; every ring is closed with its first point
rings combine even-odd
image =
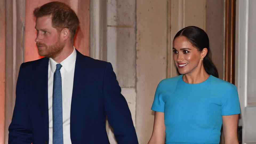
{"type": "Polygon", "coordinates": [[[165,117],[164,113],[155,111],[153,133],[148,144],[165,143],[165,117]]]}

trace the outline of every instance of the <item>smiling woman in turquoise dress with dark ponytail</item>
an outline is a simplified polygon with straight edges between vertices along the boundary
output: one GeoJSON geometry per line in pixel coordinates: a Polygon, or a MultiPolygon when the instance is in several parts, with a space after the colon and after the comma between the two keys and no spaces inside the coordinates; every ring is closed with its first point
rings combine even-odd
{"type": "Polygon", "coordinates": [[[162,80],[155,92],[153,133],[149,143],[238,143],[240,113],[236,87],[218,79],[208,56],[205,31],[189,26],[173,41],[173,60],[181,75],[162,80]]]}

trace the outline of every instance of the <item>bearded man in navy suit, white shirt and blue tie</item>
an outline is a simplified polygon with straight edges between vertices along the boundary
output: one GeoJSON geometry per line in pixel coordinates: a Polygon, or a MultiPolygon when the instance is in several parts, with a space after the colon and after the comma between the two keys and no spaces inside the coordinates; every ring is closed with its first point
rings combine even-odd
{"type": "Polygon", "coordinates": [[[118,143],[138,143],[111,64],[73,47],[75,12],[50,2],[34,16],[35,42],[45,58],[20,67],[9,143],[109,143],[106,115],[118,143]]]}

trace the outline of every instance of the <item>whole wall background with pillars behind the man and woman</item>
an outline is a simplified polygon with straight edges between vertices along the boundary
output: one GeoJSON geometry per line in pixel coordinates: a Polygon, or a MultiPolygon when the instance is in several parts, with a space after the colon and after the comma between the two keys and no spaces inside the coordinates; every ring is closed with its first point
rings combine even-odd
{"type": "MultiPolygon", "coordinates": [[[[0,144],[8,142],[19,66],[41,58],[34,42],[33,10],[50,1],[0,0],[0,144]]],[[[173,37],[191,25],[208,34],[219,78],[238,88],[239,142],[256,143],[255,0],[59,1],[70,5],[81,22],[74,46],[84,55],[112,63],[140,144],[152,134],[150,109],[158,83],[178,75],[173,37]]],[[[106,127],[115,144],[107,120],[106,127]]]]}

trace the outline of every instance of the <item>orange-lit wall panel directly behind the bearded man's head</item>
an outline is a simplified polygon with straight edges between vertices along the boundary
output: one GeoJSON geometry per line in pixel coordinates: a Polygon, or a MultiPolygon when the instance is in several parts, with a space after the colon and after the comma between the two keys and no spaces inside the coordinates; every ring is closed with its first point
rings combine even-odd
{"type": "MultiPolygon", "coordinates": [[[[41,6],[47,2],[54,0],[26,0],[26,20],[25,20],[25,59],[24,61],[33,61],[41,58],[37,53],[35,45],[36,30],[35,18],[33,10],[35,7],[41,6]]],[[[80,25],[74,41],[74,46],[82,54],[89,55],[89,0],[61,0],[70,5],[77,13],[80,20],[80,25]]]]}

